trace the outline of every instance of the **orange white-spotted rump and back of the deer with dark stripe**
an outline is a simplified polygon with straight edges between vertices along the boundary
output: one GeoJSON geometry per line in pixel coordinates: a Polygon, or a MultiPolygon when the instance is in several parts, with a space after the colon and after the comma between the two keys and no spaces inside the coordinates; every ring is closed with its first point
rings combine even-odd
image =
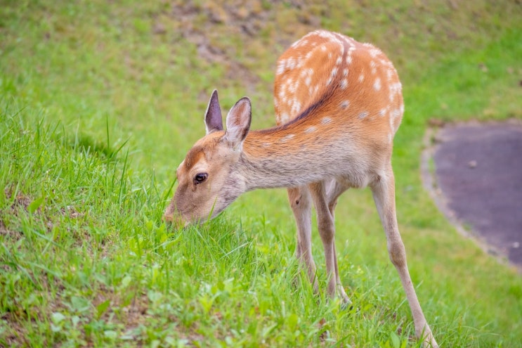
{"type": "Polygon", "coordinates": [[[309,127],[356,130],[371,142],[389,144],[404,112],[397,72],[384,53],[325,30],[307,34],[280,56],[274,105],[278,124],[320,109],[309,127]]]}

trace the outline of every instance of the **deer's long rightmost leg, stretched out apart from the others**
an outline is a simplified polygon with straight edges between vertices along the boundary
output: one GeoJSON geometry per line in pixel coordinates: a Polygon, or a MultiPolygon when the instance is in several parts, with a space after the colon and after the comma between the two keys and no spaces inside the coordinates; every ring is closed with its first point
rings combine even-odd
{"type": "Polygon", "coordinates": [[[388,247],[391,263],[397,269],[400,282],[406,292],[407,301],[412,311],[413,322],[415,323],[415,334],[419,339],[423,340],[424,347],[438,347],[437,342],[433,338],[433,334],[426,323],[426,318],[422,313],[419,299],[413,288],[410,272],[407,269],[406,252],[403,240],[397,224],[396,206],[395,206],[395,178],[391,164],[386,168],[386,172],[372,183],[372,193],[379,217],[381,218],[384,232],[386,233],[386,242],[388,247]]]}

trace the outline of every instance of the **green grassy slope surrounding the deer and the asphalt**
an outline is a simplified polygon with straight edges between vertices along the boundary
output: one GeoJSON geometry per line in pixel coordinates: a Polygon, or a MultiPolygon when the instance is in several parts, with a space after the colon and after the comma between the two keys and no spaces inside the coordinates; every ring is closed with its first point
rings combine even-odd
{"type": "Polygon", "coordinates": [[[418,347],[369,191],[337,207],[353,309],[299,273],[283,190],[183,233],[161,219],[211,90],[274,124],[275,60],[317,27],[371,41],[402,77],[398,221],[439,344],[522,347],[520,274],[419,176],[430,120],[522,119],[521,4],[304,2],[0,0],[0,347],[418,347]]]}

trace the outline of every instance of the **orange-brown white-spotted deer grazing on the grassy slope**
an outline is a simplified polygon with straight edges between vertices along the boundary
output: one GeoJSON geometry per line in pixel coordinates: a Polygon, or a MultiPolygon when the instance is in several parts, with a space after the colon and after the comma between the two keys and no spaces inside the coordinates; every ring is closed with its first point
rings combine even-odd
{"type": "Polygon", "coordinates": [[[214,90],[204,114],[206,134],[176,169],[178,186],[164,220],[177,226],[201,224],[242,193],[287,188],[299,264],[317,290],[313,205],[325,253],[327,295],[349,304],[337,265],[334,210],[348,188],[368,186],[415,334],[424,347],[438,347],[417,299],[398,230],[391,155],[404,104],[393,63],[372,44],[316,30],[278,59],[273,99],[275,127],[251,130],[252,103],[243,97],[230,108],[223,129],[214,90]]]}

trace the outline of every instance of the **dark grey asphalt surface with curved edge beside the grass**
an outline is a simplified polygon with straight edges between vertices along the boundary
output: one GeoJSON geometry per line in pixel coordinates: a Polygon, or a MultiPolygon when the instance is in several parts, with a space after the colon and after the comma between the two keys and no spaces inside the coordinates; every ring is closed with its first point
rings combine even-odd
{"type": "Polygon", "coordinates": [[[457,124],[436,134],[436,186],[449,214],[522,268],[522,124],[457,124]]]}

